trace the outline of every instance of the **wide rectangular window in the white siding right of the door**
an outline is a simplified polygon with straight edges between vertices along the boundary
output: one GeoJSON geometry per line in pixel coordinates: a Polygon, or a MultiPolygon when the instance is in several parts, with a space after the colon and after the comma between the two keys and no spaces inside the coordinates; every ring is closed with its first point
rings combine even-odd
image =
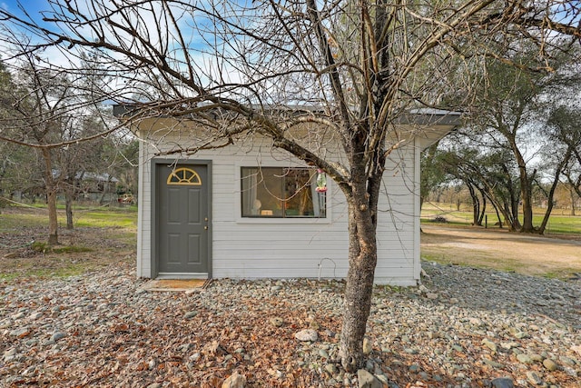
{"type": "Polygon", "coordinates": [[[325,218],[326,191],[314,168],[241,167],[241,216],[325,218]]]}

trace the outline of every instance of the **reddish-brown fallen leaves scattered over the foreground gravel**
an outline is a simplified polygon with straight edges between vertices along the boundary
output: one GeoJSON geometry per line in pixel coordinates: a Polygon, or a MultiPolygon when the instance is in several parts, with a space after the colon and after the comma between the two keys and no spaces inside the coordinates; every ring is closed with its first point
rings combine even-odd
{"type": "MultiPolygon", "coordinates": [[[[310,281],[284,284],[276,293],[267,281],[216,281],[203,293],[190,295],[136,293],[138,285],[133,272],[120,275],[118,271],[73,281],[23,282],[11,292],[28,291],[12,304],[12,294],[2,293],[0,285],[5,305],[11,306],[3,310],[10,318],[0,328],[0,356],[18,347],[15,360],[3,364],[0,359],[0,380],[11,379],[7,386],[159,383],[213,388],[222,387],[237,372],[249,388],[343,386],[337,354],[340,283],[330,283],[321,299],[317,296],[321,284],[310,281]],[[305,301],[307,295],[315,296],[305,301]],[[26,321],[38,309],[47,313],[26,321]],[[53,309],[58,314],[50,314],[53,309]],[[188,312],[195,314],[186,319],[188,312]],[[21,318],[13,319],[16,314],[21,318]],[[5,334],[16,326],[29,327],[29,333],[22,338],[5,334]],[[68,335],[56,343],[44,343],[55,329],[68,335]],[[302,330],[314,331],[318,339],[297,341],[295,334],[302,330]]],[[[478,322],[471,315],[466,318],[469,333],[432,326],[422,333],[419,315],[405,321],[401,316],[406,315],[398,314],[399,303],[414,303],[416,308],[433,305],[419,306],[416,299],[405,298],[403,293],[382,294],[374,310],[389,309],[389,313],[375,313],[369,320],[369,360],[378,363],[389,380],[401,387],[454,386],[462,373],[472,379],[470,386],[479,386],[497,373],[517,375],[511,369],[514,360],[508,356],[513,345],[490,337],[497,344],[493,352],[492,345],[483,344],[487,333],[472,330],[472,323],[478,322]],[[406,330],[398,331],[403,325],[406,330]],[[445,353],[434,353],[436,347],[445,353]],[[452,365],[450,369],[448,358],[449,363],[469,368],[452,365]]],[[[446,313],[441,316],[448,318],[446,313]]],[[[525,340],[514,341],[515,346],[524,346],[525,340]]],[[[570,353],[579,352],[569,347],[570,353]]],[[[543,371],[541,364],[530,368],[543,371]]],[[[563,387],[572,381],[563,371],[555,371],[552,377],[550,383],[563,387]]],[[[355,383],[353,375],[350,379],[355,383]]]]}

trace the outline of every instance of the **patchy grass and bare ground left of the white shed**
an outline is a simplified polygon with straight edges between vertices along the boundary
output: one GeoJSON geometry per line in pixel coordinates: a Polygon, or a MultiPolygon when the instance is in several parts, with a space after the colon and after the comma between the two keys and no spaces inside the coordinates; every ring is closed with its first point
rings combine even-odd
{"type": "Polygon", "coordinates": [[[43,207],[9,207],[0,214],[0,280],[66,277],[109,264],[134,265],[136,206],[74,208],[74,230],[58,211],[59,243],[46,244],[48,215],[43,207]]]}

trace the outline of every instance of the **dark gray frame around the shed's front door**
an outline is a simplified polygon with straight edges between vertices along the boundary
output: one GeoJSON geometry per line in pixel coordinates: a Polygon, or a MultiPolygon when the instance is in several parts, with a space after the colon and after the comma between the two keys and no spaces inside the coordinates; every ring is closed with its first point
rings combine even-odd
{"type": "MultiPolygon", "coordinates": [[[[153,158],[151,162],[151,266],[152,266],[152,278],[155,279],[159,275],[159,252],[158,252],[158,230],[159,230],[159,215],[158,215],[158,182],[157,182],[157,166],[160,164],[171,165],[204,165],[206,167],[207,177],[207,189],[208,189],[208,203],[206,204],[208,208],[208,279],[212,279],[212,160],[207,159],[169,159],[169,158],[153,158]]],[[[183,277],[188,277],[187,275],[183,277]]],[[[192,274],[192,278],[194,278],[192,274]]]]}

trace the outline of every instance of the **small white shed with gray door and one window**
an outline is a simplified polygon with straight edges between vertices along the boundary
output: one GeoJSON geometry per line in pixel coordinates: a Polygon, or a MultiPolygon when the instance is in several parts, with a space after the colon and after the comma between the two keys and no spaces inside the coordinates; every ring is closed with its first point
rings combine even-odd
{"type": "MultiPolygon", "coordinates": [[[[444,111],[410,114],[399,124],[409,140],[390,154],[384,175],[376,284],[418,284],[420,152],[458,124],[459,114],[444,111]]],[[[318,189],[324,175],[258,137],[159,157],[188,146],[178,126],[149,119],[135,130],[142,140],[137,276],[346,276],[347,206],[330,178],[326,191],[318,189]]],[[[326,157],[341,160],[332,140],[324,147],[326,157]]]]}

